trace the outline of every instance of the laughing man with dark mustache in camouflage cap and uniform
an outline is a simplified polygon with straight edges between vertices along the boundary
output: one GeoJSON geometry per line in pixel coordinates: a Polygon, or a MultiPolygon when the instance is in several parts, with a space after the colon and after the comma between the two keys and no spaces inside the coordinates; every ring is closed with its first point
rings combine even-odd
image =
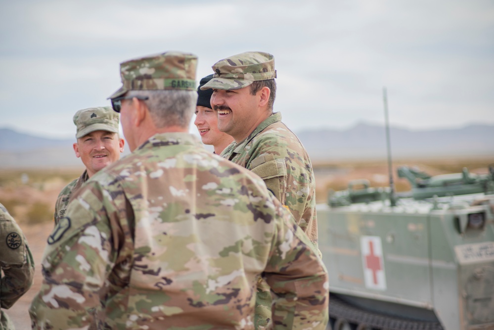
{"type": "MultiPolygon", "coordinates": [[[[317,246],[315,181],[311,160],[297,136],[273,113],[276,70],[273,55],[244,52],[213,65],[211,105],[218,128],[233,137],[222,156],[259,175],[317,246]]],[[[269,285],[259,279],[256,326],[270,319],[269,285]]]]}

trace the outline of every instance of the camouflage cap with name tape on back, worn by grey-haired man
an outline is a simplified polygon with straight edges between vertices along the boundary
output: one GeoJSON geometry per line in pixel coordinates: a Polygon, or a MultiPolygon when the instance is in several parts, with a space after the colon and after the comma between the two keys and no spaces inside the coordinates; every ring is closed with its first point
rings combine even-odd
{"type": "Polygon", "coordinates": [[[180,51],[168,51],[120,63],[122,87],[108,98],[129,91],[187,90],[195,91],[197,56],[180,51]]]}

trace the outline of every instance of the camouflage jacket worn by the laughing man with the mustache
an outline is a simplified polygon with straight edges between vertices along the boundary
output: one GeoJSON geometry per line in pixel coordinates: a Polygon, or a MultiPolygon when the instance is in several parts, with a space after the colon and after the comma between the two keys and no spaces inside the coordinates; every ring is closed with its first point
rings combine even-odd
{"type": "Polygon", "coordinates": [[[233,141],[221,155],[259,175],[317,245],[311,159],[297,136],[281,122],[281,113],[269,116],[244,141],[233,141]]]}

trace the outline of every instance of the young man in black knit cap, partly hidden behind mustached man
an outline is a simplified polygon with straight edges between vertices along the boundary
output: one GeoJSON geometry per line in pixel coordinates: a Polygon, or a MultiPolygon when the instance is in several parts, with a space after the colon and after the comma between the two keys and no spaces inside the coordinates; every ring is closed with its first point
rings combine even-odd
{"type": "Polygon", "coordinates": [[[201,90],[201,87],[210,81],[211,78],[213,78],[213,75],[202,78],[199,87],[197,88],[199,97],[197,98],[197,106],[195,107],[196,117],[194,125],[201,135],[202,143],[213,145],[215,153],[219,155],[223,149],[233,141],[233,138],[218,130],[218,116],[211,108],[210,102],[213,91],[201,90]]]}

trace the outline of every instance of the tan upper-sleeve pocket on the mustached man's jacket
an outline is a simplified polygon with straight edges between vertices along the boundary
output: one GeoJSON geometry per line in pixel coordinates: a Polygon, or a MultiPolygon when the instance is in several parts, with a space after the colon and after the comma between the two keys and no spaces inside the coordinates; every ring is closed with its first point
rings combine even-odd
{"type": "Polygon", "coordinates": [[[261,177],[269,191],[282,203],[286,197],[286,165],[284,159],[274,159],[272,154],[261,155],[251,163],[251,171],[261,177]]]}

